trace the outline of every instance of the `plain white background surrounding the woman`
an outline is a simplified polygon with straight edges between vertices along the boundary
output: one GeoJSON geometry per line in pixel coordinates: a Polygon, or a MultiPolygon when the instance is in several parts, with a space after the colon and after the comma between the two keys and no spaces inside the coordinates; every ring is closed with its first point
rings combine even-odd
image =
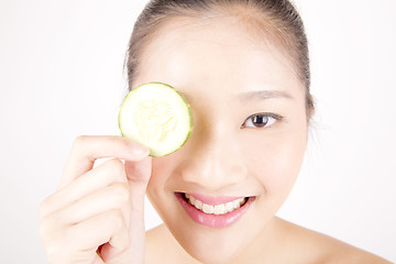
{"type": "MultiPolygon", "coordinates": [[[[46,263],[38,204],[79,134],[119,134],[143,0],[0,0],[0,257],[46,263]]],[[[279,216],[396,261],[396,2],[296,0],[317,112],[279,216]]],[[[147,204],[146,228],[160,223],[147,204]]]]}

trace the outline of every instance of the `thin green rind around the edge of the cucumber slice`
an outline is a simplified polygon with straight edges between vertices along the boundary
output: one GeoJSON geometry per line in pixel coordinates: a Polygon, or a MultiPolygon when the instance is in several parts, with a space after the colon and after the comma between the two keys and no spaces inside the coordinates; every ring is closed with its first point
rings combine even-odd
{"type": "MultiPolygon", "coordinates": [[[[142,87],[144,87],[144,86],[146,86],[146,85],[162,85],[162,86],[165,86],[165,87],[167,87],[167,88],[173,89],[173,90],[176,91],[177,95],[183,99],[183,101],[184,101],[184,103],[186,105],[187,110],[188,110],[188,116],[189,116],[189,121],[190,121],[190,123],[189,123],[189,131],[188,131],[188,133],[187,133],[187,135],[186,135],[185,141],[179,145],[179,147],[177,147],[177,148],[174,150],[173,152],[169,152],[169,153],[166,153],[166,154],[163,154],[163,155],[154,155],[154,154],[152,154],[152,151],[150,151],[150,154],[148,154],[148,156],[151,156],[151,157],[167,156],[167,155],[170,155],[170,154],[177,152],[178,150],[180,150],[182,146],[184,146],[184,144],[186,144],[187,140],[189,139],[189,136],[190,136],[191,133],[193,133],[193,128],[194,128],[194,118],[193,118],[193,111],[191,111],[190,105],[188,103],[188,101],[186,100],[186,98],[185,98],[178,90],[176,90],[174,87],[172,87],[172,86],[169,86],[169,85],[166,85],[166,84],[164,84],[164,82],[160,82],[160,81],[150,81],[150,82],[145,82],[145,84],[140,85],[140,86],[133,88],[132,90],[130,90],[130,91],[127,94],[127,96],[124,97],[124,99],[122,100],[122,102],[121,102],[120,111],[119,111],[119,114],[118,114],[118,127],[119,127],[119,129],[120,129],[121,135],[122,135],[122,136],[125,136],[125,135],[122,133],[121,123],[120,123],[120,113],[121,113],[122,106],[123,106],[123,103],[125,102],[127,98],[130,96],[131,92],[133,92],[133,91],[135,91],[136,89],[142,88],[142,87]]],[[[125,138],[127,138],[127,136],[125,136],[125,138]]]]}

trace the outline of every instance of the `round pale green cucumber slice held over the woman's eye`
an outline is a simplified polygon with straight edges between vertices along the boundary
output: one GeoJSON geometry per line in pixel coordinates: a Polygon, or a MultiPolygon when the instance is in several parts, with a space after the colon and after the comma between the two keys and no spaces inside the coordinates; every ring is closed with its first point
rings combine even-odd
{"type": "Polygon", "coordinates": [[[132,89],[119,113],[121,134],[150,148],[158,157],[180,148],[193,132],[193,113],[173,87],[148,82],[132,89]]]}

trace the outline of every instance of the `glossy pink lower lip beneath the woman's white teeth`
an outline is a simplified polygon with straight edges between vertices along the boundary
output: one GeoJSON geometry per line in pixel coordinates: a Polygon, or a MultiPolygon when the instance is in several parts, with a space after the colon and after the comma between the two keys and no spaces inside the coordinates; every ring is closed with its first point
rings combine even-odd
{"type": "Polygon", "coordinates": [[[249,197],[248,201],[239,209],[224,215],[209,215],[198,210],[186,201],[182,193],[175,193],[177,200],[182,204],[188,216],[197,223],[209,228],[226,228],[238,221],[254,201],[254,197],[249,197]]]}

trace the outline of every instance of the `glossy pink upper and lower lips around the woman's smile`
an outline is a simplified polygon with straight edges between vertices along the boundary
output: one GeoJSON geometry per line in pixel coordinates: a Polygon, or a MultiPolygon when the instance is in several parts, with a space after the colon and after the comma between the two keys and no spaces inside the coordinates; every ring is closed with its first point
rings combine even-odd
{"type": "MultiPolygon", "coordinates": [[[[198,198],[199,200],[204,198],[201,201],[205,200],[204,201],[205,204],[210,201],[208,202],[209,205],[220,205],[240,198],[240,197],[208,197],[197,194],[190,194],[190,195],[198,198]]],[[[210,228],[226,228],[231,226],[248,211],[249,207],[254,201],[254,197],[249,197],[248,201],[239,209],[235,209],[231,212],[227,212],[224,215],[211,215],[211,213],[206,213],[197,209],[196,207],[191,206],[190,204],[188,204],[183,193],[175,193],[175,196],[177,200],[180,202],[182,207],[186,210],[187,215],[195,222],[210,228]]]]}

